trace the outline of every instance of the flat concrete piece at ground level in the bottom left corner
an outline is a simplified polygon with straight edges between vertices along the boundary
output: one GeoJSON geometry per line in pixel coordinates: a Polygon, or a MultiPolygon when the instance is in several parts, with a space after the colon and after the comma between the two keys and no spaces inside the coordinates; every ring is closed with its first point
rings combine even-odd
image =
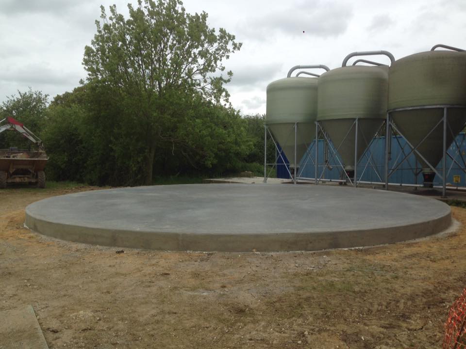
{"type": "Polygon", "coordinates": [[[49,349],[32,305],[0,311],[0,349],[49,349]]]}

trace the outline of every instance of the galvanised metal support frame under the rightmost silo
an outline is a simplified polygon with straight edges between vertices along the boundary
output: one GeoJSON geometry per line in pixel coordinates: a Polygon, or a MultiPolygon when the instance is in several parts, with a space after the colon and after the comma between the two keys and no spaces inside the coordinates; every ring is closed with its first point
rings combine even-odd
{"type": "MultiPolygon", "coordinates": [[[[448,122],[448,110],[453,109],[453,108],[466,108],[466,106],[462,105],[433,105],[433,106],[420,106],[420,107],[407,107],[407,108],[397,108],[397,109],[392,109],[387,112],[387,120],[386,120],[386,140],[385,140],[385,190],[388,190],[388,178],[395,173],[399,169],[399,167],[406,161],[408,162],[409,167],[412,169],[411,164],[409,163],[409,156],[413,153],[418,155],[426,164],[429,166],[429,168],[442,180],[442,198],[447,197],[447,176],[449,175],[453,163],[456,163],[459,168],[466,174],[466,160],[463,158],[463,155],[461,154],[461,145],[464,143],[464,140],[461,142],[459,145],[456,140],[455,140],[455,135],[453,134],[453,130],[451,129],[449,122],[448,122]],[[398,127],[396,124],[393,122],[391,118],[391,114],[396,111],[411,111],[411,110],[423,110],[423,109],[442,109],[443,110],[443,116],[442,118],[435,124],[434,127],[427,133],[426,136],[416,145],[413,146],[406,137],[399,131],[398,127]],[[418,147],[426,141],[426,139],[431,135],[431,133],[440,125],[442,125],[443,129],[443,142],[442,142],[442,174],[440,174],[437,169],[435,168],[435,165],[431,164],[429,161],[427,161],[424,156],[418,151],[418,147]],[[456,160],[456,155],[453,157],[451,154],[449,154],[448,149],[447,149],[447,130],[449,129],[453,142],[456,145],[456,148],[458,150],[458,153],[460,154],[460,157],[463,161],[463,165],[461,165],[457,160],[456,160]],[[391,138],[391,131],[395,130],[403,139],[405,140],[406,144],[408,144],[411,147],[411,151],[406,155],[404,153],[404,146],[401,147],[401,151],[404,155],[404,158],[399,160],[399,157],[395,160],[393,163],[392,167],[389,167],[389,154],[391,152],[391,144],[389,144],[389,137],[391,138]],[[452,159],[452,164],[447,172],[447,157],[452,159]]],[[[398,139],[397,139],[398,141],[398,139]]],[[[398,141],[399,142],[399,141],[398,141]]],[[[401,154],[400,154],[401,155],[401,154]]],[[[416,160],[416,171],[414,172],[414,175],[417,176],[419,175],[420,172],[417,172],[417,160],[416,160]]]]}

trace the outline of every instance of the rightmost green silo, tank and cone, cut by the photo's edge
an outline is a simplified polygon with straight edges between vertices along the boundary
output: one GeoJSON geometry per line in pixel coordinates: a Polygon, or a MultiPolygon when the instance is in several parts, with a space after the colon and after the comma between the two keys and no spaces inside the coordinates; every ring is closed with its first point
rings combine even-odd
{"type": "MultiPolygon", "coordinates": [[[[389,110],[443,105],[465,106],[448,109],[447,120],[453,132],[447,127],[448,148],[466,123],[466,52],[431,50],[401,58],[392,65],[389,110]]],[[[443,158],[443,115],[443,108],[391,112],[399,131],[414,147],[418,146],[416,149],[433,167],[443,158]]],[[[435,172],[417,154],[416,159],[422,167],[424,186],[432,187],[435,172]]]]}

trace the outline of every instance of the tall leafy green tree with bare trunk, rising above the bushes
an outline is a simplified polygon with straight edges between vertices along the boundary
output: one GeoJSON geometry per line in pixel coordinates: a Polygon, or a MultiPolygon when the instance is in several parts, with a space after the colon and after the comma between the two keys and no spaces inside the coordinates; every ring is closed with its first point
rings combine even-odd
{"type": "Polygon", "coordinates": [[[186,13],[180,0],[144,0],[128,8],[125,18],[115,5],[109,15],[101,7],[83,65],[88,83],[111,89],[133,137],[144,144],[144,182],[150,184],[157,149],[177,141],[170,130],[183,119],[179,100],[200,95],[228,102],[224,84],[232,73],[219,72],[241,44],[226,30],[210,28],[205,12],[186,13]]]}

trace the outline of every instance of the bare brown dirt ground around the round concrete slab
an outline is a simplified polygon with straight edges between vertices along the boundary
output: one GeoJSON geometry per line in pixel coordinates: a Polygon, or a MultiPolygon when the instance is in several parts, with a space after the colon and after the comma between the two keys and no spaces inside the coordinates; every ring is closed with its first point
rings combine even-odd
{"type": "MultiPolygon", "coordinates": [[[[266,254],[118,254],[23,227],[28,204],[91,189],[0,193],[0,311],[32,304],[51,349],[441,348],[466,286],[464,226],[413,243],[266,254]]],[[[465,224],[466,210],[452,210],[465,224]]]]}

